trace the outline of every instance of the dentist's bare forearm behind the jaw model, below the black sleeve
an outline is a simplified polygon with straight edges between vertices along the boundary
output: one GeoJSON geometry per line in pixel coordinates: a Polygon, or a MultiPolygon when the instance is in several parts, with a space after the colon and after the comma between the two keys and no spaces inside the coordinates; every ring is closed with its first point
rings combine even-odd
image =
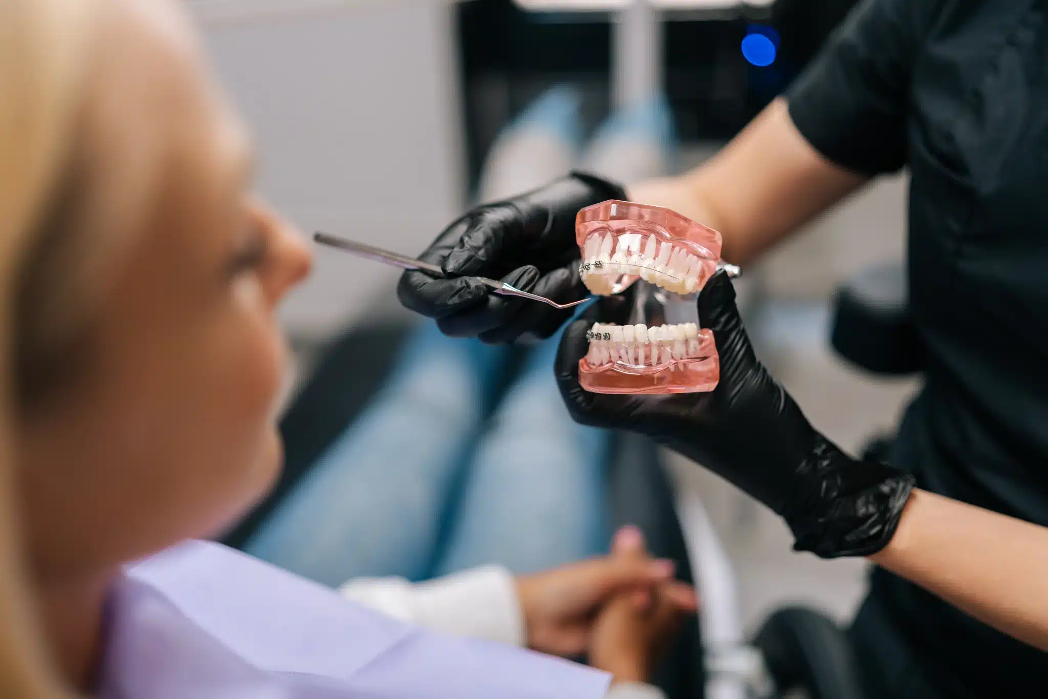
{"type": "Polygon", "coordinates": [[[812,148],[780,97],[699,168],[627,194],[720,231],[724,259],[747,264],[867,179],[812,148]]]}

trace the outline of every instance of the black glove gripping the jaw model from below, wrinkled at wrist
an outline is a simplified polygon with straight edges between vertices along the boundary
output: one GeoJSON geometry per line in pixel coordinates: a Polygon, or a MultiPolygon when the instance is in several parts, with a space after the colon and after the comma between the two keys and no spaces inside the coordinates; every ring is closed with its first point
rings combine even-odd
{"type": "Polygon", "coordinates": [[[708,393],[604,395],[578,385],[578,359],[593,323],[623,323],[628,299],[594,304],[564,333],[556,379],[578,422],[629,430],[697,461],[780,515],[799,551],[823,558],[869,555],[895,533],[913,477],[856,461],[816,432],[793,398],[757,359],[718,272],[699,294],[700,326],[713,330],[720,383],[708,393]]]}

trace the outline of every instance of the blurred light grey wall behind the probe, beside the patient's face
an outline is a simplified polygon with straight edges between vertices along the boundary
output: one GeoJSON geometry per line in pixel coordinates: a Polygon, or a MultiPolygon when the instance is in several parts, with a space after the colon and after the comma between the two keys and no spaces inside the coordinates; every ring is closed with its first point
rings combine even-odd
{"type": "MultiPolygon", "coordinates": [[[[252,127],[259,190],[304,233],[417,254],[460,213],[451,5],[438,0],[199,0],[220,79],[252,127]]],[[[318,249],[292,333],[367,310],[395,270],[318,249]]]]}

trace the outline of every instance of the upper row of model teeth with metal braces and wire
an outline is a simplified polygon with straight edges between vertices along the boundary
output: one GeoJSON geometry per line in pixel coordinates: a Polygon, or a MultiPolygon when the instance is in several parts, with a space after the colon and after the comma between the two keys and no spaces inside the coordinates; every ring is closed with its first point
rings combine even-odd
{"type": "Polygon", "coordinates": [[[648,237],[631,249],[637,236],[595,233],[583,245],[580,276],[594,293],[611,293],[613,278],[620,275],[640,277],[675,293],[693,293],[699,288],[702,261],[693,253],[671,242],[648,237]],[[615,249],[616,243],[618,249],[615,249]]]}

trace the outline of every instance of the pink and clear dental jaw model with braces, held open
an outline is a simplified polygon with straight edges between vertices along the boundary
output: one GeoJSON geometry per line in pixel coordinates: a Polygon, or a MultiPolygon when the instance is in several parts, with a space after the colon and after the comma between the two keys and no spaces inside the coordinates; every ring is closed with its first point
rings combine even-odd
{"type": "Polygon", "coordinates": [[[598,296],[634,284],[628,325],[596,323],[578,380],[592,393],[712,391],[720,378],[713,333],[696,294],[720,258],[720,234],[660,206],[605,201],[578,212],[580,275],[598,296]],[[669,322],[669,323],[668,323],[669,322]]]}

